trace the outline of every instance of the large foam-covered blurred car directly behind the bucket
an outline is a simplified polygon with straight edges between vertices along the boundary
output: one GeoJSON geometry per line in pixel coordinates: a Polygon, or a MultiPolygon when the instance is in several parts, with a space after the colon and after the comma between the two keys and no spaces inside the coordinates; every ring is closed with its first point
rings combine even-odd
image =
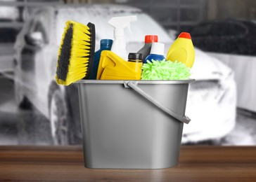
{"type": "MultiPolygon", "coordinates": [[[[77,85],[63,87],[55,81],[58,47],[65,22],[94,22],[97,50],[101,39],[113,38],[113,28],[108,25],[108,20],[124,15],[138,15],[138,22],[131,25],[132,34],[124,31],[129,52],[136,52],[143,46],[146,34],[157,34],[167,52],[174,40],[150,16],[129,6],[44,8],[32,15],[18,35],[15,43],[15,62],[18,62],[15,66],[16,100],[20,106],[32,103],[49,118],[54,144],[74,144],[82,139],[77,85]]],[[[187,115],[192,121],[184,128],[184,142],[223,137],[233,129],[236,116],[231,69],[196,49],[191,78],[196,78],[197,82],[191,85],[188,95],[187,115]],[[208,130],[213,126],[216,132],[211,133],[208,130]]]]}

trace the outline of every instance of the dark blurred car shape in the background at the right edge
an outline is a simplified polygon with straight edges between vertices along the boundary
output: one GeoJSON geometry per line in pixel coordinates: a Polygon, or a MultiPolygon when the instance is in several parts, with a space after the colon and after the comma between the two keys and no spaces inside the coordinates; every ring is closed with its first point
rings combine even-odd
{"type": "Polygon", "coordinates": [[[196,47],[206,52],[256,56],[256,22],[215,20],[191,28],[196,47]]]}

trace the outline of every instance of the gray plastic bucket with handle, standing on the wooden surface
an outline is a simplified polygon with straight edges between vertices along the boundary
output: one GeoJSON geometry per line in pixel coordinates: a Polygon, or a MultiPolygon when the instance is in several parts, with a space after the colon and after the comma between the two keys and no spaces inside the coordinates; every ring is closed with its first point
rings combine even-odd
{"type": "Polygon", "coordinates": [[[178,164],[188,84],[194,80],[80,80],[84,166],[162,169],[178,164]]]}

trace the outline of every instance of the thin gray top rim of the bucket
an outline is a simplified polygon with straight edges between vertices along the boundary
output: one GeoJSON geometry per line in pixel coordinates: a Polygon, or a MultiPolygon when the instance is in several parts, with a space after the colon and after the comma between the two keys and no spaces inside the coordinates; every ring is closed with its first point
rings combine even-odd
{"type": "Polygon", "coordinates": [[[76,84],[124,84],[126,82],[136,82],[136,84],[187,84],[194,83],[195,79],[189,80],[79,80],[76,84]]]}

